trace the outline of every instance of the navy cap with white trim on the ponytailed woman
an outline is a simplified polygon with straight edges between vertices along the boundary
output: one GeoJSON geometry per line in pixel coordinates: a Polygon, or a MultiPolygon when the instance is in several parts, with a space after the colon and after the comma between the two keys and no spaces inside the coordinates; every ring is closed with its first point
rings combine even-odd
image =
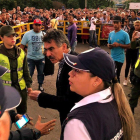
{"type": "Polygon", "coordinates": [[[91,72],[106,82],[111,82],[115,77],[114,61],[101,48],[87,50],[78,56],[64,54],[64,60],[70,67],[91,72]]]}

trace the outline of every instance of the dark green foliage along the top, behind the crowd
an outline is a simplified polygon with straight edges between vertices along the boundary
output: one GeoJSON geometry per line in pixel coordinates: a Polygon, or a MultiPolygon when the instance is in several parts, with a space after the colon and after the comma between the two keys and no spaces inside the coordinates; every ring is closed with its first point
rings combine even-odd
{"type": "MultiPolygon", "coordinates": [[[[6,9],[11,10],[17,6],[20,6],[21,10],[26,6],[50,9],[55,8],[53,7],[53,5],[56,5],[54,4],[55,1],[60,2],[61,5],[63,3],[67,8],[85,8],[85,0],[0,0],[0,9],[6,7],[6,9]]],[[[138,2],[139,0],[131,1],[138,2]]],[[[112,7],[113,5],[114,2],[111,0],[87,0],[87,8],[112,7]]]]}

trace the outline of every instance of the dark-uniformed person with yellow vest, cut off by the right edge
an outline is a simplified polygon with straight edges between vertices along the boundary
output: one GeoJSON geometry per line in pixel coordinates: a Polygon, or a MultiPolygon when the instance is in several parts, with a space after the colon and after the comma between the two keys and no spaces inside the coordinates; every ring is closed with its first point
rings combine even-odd
{"type": "MultiPolygon", "coordinates": [[[[138,21],[136,21],[138,22],[138,21]]],[[[139,21],[139,29],[140,29],[140,21],[139,21]]],[[[131,49],[140,48],[140,32],[134,31],[131,40],[131,49]]],[[[134,113],[134,109],[138,104],[138,98],[140,96],[140,49],[138,59],[130,72],[130,81],[133,85],[131,90],[131,97],[129,99],[129,104],[134,113]]]]}

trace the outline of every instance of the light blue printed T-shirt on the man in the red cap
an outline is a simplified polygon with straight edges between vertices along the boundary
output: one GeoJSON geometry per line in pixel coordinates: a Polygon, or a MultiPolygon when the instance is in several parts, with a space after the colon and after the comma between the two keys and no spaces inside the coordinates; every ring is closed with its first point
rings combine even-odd
{"type": "Polygon", "coordinates": [[[33,60],[43,59],[44,43],[42,42],[43,33],[35,33],[33,30],[26,32],[21,44],[28,44],[27,58],[33,60]]]}

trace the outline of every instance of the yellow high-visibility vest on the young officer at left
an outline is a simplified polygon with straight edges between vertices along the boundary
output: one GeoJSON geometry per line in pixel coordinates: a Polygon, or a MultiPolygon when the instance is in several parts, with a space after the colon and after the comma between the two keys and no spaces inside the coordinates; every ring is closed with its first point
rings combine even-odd
{"type": "MultiPolygon", "coordinates": [[[[25,53],[24,51],[21,49],[21,53],[20,56],[17,58],[17,69],[15,71],[17,71],[18,74],[18,83],[20,86],[20,89],[23,90],[26,88],[26,83],[25,80],[23,78],[23,61],[25,58],[25,53]]],[[[3,67],[6,67],[8,69],[8,71],[1,77],[3,84],[7,85],[7,86],[11,86],[12,81],[11,81],[11,70],[10,70],[10,63],[9,63],[9,59],[7,56],[5,56],[4,54],[0,54],[0,65],[3,67]]]]}

